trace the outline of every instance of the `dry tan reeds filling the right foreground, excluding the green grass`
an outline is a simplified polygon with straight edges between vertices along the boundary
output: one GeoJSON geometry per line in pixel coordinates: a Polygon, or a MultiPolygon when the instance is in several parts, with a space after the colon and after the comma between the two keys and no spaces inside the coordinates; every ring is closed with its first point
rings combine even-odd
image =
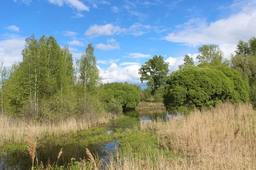
{"type": "Polygon", "coordinates": [[[166,149],[184,155],[170,169],[256,169],[255,122],[251,104],[226,103],[141,128],[155,130],[166,149]]]}

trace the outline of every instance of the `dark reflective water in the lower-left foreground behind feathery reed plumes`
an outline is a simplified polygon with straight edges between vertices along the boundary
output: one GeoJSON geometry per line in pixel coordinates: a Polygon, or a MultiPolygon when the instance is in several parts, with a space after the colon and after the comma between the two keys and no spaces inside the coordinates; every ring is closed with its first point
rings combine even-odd
{"type": "MultiPolygon", "coordinates": [[[[114,154],[114,148],[118,145],[118,141],[111,141],[102,145],[89,145],[87,148],[90,152],[96,155],[98,153],[99,157],[104,160],[104,164],[109,161],[109,152],[114,154]]],[[[50,161],[53,165],[57,161],[57,155],[60,152],[61,147],[57,147],[54,143],[47,143],[41,148],[36,149],[36,155],[38,158],[38,163],[42,161],[45,165],[46,162],[50,161]]],[[[63,154],[58,160],[58,165],[67,165],[70,159],[74,157],[77,161],[79,158],[87,159],[85,154],[85,148],[80,148],[78,146],[69,145],[63,147],[63,154]]],[[[36,162],[34,162],[35,165],[36,162]]],[[[31,158],[27,152],[25,153],[15,153],[12,155],[7,155],[0,158],[0,169],[4,170],[28,170],[32,165],[31,158]]],[[[104,165],[103,165],[104,166],[104,165]]]]}

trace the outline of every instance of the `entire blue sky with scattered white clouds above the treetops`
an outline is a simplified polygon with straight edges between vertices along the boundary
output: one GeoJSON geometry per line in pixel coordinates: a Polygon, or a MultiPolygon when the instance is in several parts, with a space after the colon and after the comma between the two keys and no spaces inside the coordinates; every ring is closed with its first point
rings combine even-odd
{"type": "Polygon", "coordinates": [[[24,39],[54,36],[73,59],[95,48],[102,82],[141,85],[138,69],[154,55],[170,72],[203,44],[224,57],[241,39],[256,36],[256,0],[1,0],[0,62],[22,61],[24,39]]]}

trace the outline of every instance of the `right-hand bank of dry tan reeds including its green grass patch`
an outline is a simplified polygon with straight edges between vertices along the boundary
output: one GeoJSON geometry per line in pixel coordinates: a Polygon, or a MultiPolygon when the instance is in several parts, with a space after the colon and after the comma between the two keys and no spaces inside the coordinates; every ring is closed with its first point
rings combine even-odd
{"type": "MultiPolygon", "coordinates": [[[[123,140],[129,140],[119,145],[123,152],[116,151],[106,169],[255,169],[255,124],[250,104],[229,103],[178,120],[141,123],[140,130],[125,135],[123,140]],[[140,144],[135,147],[134,143],[140,144]]],[[[72,168],[99,169],[101,165],[94,157],[72,168]]]]}

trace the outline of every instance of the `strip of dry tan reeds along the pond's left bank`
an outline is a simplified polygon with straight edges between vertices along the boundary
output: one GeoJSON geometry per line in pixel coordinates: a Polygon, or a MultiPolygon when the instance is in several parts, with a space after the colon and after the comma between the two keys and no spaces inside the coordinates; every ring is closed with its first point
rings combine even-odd
{"type": "Polygon", "coordinates": [[[36,139],[46,136],[65,135],[70,132],[82,131],[91,128],[97,123],[108,123],[113,115],[102,116],[86,115],[81,118],[68,118],[58,122],[37,122],[24,118],[1,117],[0,118],[0,145],[7,142],[23,142],[26,130],[36,139]]]}

